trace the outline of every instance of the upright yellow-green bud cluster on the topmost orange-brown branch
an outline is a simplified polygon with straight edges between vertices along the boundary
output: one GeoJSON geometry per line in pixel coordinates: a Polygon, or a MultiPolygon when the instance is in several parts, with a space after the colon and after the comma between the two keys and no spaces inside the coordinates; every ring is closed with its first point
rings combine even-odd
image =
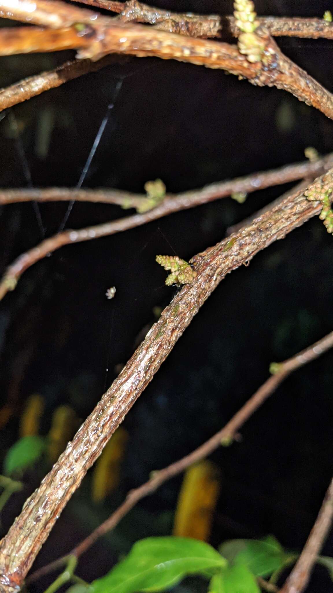
{"type": "Polygon", "coordinates": [[[239,52],[244,54],[249,62],[260,62],[265,49],[264,42],[255,34],[259,22],[255,20],[257,12],[252,0],[235,0],[233,15],[236,25],[242,33],[238,37],[239,52]]]}

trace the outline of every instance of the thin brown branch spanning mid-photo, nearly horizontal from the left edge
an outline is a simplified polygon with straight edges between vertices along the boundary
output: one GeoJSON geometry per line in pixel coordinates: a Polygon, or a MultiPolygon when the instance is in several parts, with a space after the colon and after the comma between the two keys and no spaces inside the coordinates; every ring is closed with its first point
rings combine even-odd
{"type": "MultiPolygon", "coordinates": [[[[219,181],[198,190],[189,190],[179,194],[167,194],[164,202],[167,205],[172,205],[172,212],[175,212],[175,208],[182,210],[200,206],[218,198],[230,196],[232,193],[252,193],[266,187],[289,183],[290,181],[296,181],[304,177],[317,177],[328,171],[332,166],[333,154],[328,154],[316,161],[307,160],[297,162],[296,164],[284,165],[271,171],[261,171],[260,173],[252,173],[245,177],[219,181]]],[[[35,200],[36,202],[78,200],[79,202],[117,204],[124,208],[140,208],[146,199],[147,196],[145,194],[134,194],[113,189],[78,190],[66,187],[0,189],[0,204],[30,202],[30,200],[35,200]]]]}

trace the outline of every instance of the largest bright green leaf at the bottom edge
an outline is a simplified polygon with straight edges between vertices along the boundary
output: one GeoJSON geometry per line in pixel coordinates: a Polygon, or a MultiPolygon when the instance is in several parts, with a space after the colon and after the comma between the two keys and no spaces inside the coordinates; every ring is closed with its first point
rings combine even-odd
{"type": "Polygon", "coordinates": [[[203,541],[187,537],[148,537],[107,575],[92,582],[93,593],[163,591],[187,575],[212,576],[226,560],[203,541]]]}

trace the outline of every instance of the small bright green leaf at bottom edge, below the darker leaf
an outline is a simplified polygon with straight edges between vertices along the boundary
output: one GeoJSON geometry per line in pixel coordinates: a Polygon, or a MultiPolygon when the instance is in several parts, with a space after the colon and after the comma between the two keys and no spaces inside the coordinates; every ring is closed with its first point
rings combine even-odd
{"type": "Polygon", "coordinates": [[[208,590],[209,593],[260,593],[255,576],[242,564],[228,566],[214,575],[208,590]]]}

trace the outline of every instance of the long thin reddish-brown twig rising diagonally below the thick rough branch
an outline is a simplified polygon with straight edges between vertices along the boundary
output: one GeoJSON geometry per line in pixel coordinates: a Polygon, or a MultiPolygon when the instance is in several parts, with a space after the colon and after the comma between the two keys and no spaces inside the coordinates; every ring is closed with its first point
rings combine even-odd
{"type": "MultiPolygon", "coordinates": [[[[172,477],[182,473],[187,467],[194,463],[208,457],[215,449],[220,447],[223,442],[229,442],[235,438],[239,428],[241,428],[245,422],[256,412],[256,410],[262,406],[265,400],[271,396],[274,391],[277,390],[278,386],[283,382],[291,372],[296,371],[301,366],[312,362],[333,346],[333,331],[323,337],[318,342],[312,344],[302,352],[297,353],[287,361],[281,362],[276,365],[277,372],[271,375],[270,378],[265,381],[261,387],[249,398],[248,401],[241,407],[238,412],[229,420],[229,422],[212,438],[204,442],[197,449],[194,449],[189,455],[185,455],[180,460],[172,463],[170,466],[165,467],[162,470],[153,471],[151,479],[148,480],[142,486],[139,486],[135,490],[131,490],[124,502],[113,512],[110,517],[99,525],[91,534],[88,535],[81,543],[78,544],[69,554],[51,562],[46,566],[43,566],[39,570],[36,570],[28,579],[27,582],[33,582],[39,579],[41,576],[47,575],[49,572],[53,572],[63,563],[66,562],[68,556],[76,556],[77,558],[84,554],[101,536],[113,530],[121,519],[136,505],[139,500],[145,498],[155,492],[156,489],[170,480],[172,477]]],[[[272,585],[269,591],[277,591],[277,588],[272,585]]]]}

